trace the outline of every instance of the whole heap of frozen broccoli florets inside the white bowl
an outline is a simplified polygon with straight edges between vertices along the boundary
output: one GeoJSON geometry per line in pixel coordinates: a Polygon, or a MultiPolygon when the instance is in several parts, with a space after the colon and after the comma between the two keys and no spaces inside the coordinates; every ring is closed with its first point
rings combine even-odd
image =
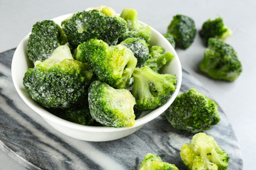
{"type": "Polygon", "coordinates": [[[177,77],[158,71],[174,55],[150,46],[151,29],[135,9],[120,16],[105,6],[61,22],[33,25],[23,84],[32,99],[56,116],[83,125],[129,127],[136,112],[164,105],[177,77]],[[132,89],[132,90],[131,90],[132,89]]]}

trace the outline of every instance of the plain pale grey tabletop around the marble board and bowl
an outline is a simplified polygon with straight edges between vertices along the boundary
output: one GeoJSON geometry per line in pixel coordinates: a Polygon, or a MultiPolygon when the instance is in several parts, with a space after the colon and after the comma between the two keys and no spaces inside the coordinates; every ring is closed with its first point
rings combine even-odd
{"type": "MultiPolygon", "coordinates": [[[[198,63],[203,58],[203,44],[197,35],[187,50],[177,50],[182,67],[196,77],[228,116],[234,127],[242,156],[244,169],[255,169],[256,151],[256,109],[253,85],[255,84],[256,46],[256,1],[240,0],[186,0],[186,1],[0,1],[0,52],[15,48],[18,42],[32,29],[35,22],[51,19],[62,14],[107,5],[121,12],[125,7],[137,9],[139,20],[151,25],[160,33],[165,33],[175,14],[185,14],[194,18],[196,28],[208,18],[219,14],[233,31],[226,42],[231,44],[243,65],[243,73],[235,82],[212,80],[198,71],[198,63]]],[[[1,103],[0,103],[1,104],[1,103]]],[[[16,161],[0,150],[0,169],[22,169],[16,161]]],[[[23,168],[24,169],[24,168],[23,168]]]]}

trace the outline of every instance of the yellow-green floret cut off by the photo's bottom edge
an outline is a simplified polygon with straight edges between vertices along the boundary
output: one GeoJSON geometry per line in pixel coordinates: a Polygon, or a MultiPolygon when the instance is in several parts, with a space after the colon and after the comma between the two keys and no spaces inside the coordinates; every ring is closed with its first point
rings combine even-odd
{"type": "Polygon", "coordinates": [[[179,170],[174,164],[161,160],[160,156],[148,153],[140,164],[139,170],[179,170]]]}

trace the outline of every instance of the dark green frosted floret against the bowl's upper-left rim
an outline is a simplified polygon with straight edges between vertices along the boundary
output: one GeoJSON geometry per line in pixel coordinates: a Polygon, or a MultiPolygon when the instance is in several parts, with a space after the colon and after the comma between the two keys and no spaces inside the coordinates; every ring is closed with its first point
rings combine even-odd
{"type": "Polygon", "coordinates": [[[62,29],[52,20],[43,20],[33,25],[28,38],[28,58],[35,61],[45,61],[53,51],[67,42],[62,29]]]}

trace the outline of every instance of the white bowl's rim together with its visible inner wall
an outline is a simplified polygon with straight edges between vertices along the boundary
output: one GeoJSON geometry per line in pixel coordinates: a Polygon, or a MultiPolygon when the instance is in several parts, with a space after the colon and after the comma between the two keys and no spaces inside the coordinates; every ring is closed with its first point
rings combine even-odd
{"type": "MultiPolygon", "coordinates": [[[[56,24],[59,24],[62,22],[62,20],[65,20],[68,18],[71,14],[66,14],[63,16],[58,16],[57,18],[54,18],[54,22],[56,24]]],[[[140,22],[140,24],[144,24],[140,22]]],[[[146,25],[146,24],[144,24],[146,25]]],[[[66,126],[72,129],[79,129],[81,131],[95,131],[95,132],[112,132],[112,131],[122,131],[127,129],[132,129],[135,127],[142,126],[143,124],[146,124],[146,122],[149,122],[150,120],[153,120],[157,116],[159,116],[164,110],[166,110],[171,103],[173,103],[173,100],[179,93],[179,90],[181,88],[181,80],[182,80],[182,69],[181,69],[181,63],[179,60],[179,57],[177,53],[175,52],[173,46],[161,35],[158,31],[156,31],[154,28],[150,27],[152,29],[152,39],[150,40],[149,44],[152,45],[158,45],[165,49],[165,52],[171,52],[175,55],[175,58],[165,67],[162,69],[162,73],[169,73],[177,75],[177,89],[175,90],[175,93],[173,93],[171,99],[165,103],[165,105],[158,107],[157,109],[151,110],[148,112],[148,114],[142,116],[141,118],[138,118],[135,122],[135,125],[133,127],[121,127],[121,128],[115,128],[115,127],[96,127],[96,126],[83,126],[80,124],[75,124],[73,122],[68,122],[66,120],[63,120],[62,118],[58,118],[57,116],[54,116],[54,114],[51,114],[47,110],[45,110],[43,107],[35,103],[35,101],[32,100],[30,95],[26,92],[24,86],[23,86],[23,77],[28,68],[33,67],[33,63],[27,58],[27,43],[28,43],[28,37],[29,34],[22,39],[20,44],[18,44],[18,47],[16,48],[16,51],[14,52],[14,56],[12,59],[12,80],[14,82],[14,86],[22,98],[22,100],[35,112],[37,112],[39,115],[43,116],[45,120],[49,120],[51,122],[54,122],[54,124],[59,124],[61,126],[66,126]]]]}

